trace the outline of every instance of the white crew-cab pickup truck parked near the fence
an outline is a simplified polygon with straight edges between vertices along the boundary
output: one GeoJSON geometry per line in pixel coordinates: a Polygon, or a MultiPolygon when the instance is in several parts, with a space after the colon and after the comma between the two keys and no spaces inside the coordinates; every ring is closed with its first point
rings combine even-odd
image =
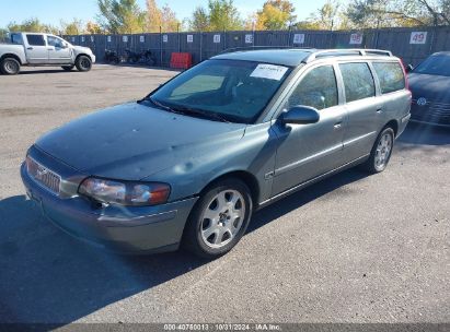
{"type": "Polygon", "coordinates": [[[9,44],[0,44],[0,72],[14,75],[21,66],[61,66],[70,71],[91,70],[95,56],[89,47],[73,46],[51,34],[12,33],[9,44]]]}

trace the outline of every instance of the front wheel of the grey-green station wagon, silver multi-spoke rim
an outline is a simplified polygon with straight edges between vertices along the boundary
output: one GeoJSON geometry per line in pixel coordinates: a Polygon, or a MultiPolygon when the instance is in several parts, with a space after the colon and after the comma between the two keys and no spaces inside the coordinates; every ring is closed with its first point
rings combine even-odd
{"type": "Polygon", "coordinates": [[[238,179],[224,179],[201,194],[187,221],[184,247],[215,259],[230,251],[244,235],[252,217],[252,197],[238,179]]]}

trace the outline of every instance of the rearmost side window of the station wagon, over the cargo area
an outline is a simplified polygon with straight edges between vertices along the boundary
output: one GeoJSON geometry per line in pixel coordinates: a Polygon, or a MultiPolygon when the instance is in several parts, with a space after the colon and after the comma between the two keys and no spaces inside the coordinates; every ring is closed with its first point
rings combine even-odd
{"type": "Polygon", "coordinates": [[[405,88],[405,78],[399,62],[373,62],[372,64],[383,94],[405,88]]]}

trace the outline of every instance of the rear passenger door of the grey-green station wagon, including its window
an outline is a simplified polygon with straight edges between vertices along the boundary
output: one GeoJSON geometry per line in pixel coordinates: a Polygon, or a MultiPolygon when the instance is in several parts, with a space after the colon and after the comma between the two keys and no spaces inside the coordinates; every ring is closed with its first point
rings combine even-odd
{"type": "Polygon", "coordinates": [[[370,153],[383,120],[383,103],[377,97],[376,81],[368,62],[343,62],[338,68],[348,115],[344,161],[349,163],[370,153]]]}

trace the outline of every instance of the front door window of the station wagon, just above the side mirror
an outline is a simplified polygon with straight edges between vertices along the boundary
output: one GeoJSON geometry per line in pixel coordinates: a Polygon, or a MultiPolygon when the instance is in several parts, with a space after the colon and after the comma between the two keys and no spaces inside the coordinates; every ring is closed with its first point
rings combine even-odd
{"type": "Polygon", "coordinates": [[[296,86],[285,108],[297,105],[323,109],[337,105],[337,84],[332,66],[311,70],[296,86]]]}

